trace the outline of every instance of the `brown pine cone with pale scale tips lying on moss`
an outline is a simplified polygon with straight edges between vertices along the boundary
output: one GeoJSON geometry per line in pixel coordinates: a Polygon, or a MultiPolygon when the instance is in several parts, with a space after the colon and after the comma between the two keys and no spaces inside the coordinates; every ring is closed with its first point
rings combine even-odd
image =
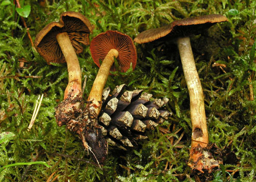
{"type": "Polygon", "coordinates": [[[152,99],[152,94],[143,90],[125,90],[125,85],[116,86],[110,95],[110,88],[102,93],[102,108],[99,125],[109,146],[126,150],[137,146],[137,141],[147,139],[146,129],[154,129],[168,119],[170,112],[162,109],[167,98],[152,99]],[[152,101],[153,100],[153,101],[152,101]]]}

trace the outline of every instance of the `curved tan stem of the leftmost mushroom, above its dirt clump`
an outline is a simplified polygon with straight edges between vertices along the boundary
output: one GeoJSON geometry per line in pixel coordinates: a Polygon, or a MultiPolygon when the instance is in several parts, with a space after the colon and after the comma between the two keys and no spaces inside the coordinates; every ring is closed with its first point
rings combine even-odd
{"type": "Polygon", "coordinates": [[[76,97],[82,90],[81,70],[76,52],[67,32],[57,34],[56,38],[68,65],[69,83],[65,90],[64,99],[71,93],[76,97]]]}

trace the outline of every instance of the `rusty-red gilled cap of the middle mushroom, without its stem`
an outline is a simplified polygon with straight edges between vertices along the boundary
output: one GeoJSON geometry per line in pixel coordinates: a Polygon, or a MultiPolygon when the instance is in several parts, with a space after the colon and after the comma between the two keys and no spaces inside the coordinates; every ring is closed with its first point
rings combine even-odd
{"type": "MultiPolygon", "coordinates": [[[[94,37],[91,41],[90,50],[94,62],[99,67],[99,61],[103,61],[111,49],[116,49],[119,52],[117,61],[122,72],[126,72],[130,68],[131,62],[133,63],[133,70],[135,69],[137,52],[131,37],[112,30],[100,33],[94,37]]],[[[116,71],[114,64],[111,67],[111,71],[116,71]]]]}

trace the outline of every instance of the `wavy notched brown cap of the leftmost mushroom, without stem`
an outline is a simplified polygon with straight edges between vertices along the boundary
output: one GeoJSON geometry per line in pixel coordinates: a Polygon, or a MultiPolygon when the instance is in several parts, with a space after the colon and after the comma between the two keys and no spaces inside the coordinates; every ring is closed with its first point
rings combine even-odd
{"type": "Polygon", "coordinates": [[[65,12],[61,14],[59,22],[51,22],[36,35],[35,48],[47,63],[63,63],[66,61],[60,50],[56,35],[67,32],[76,54],[79,54],[83,50],[79,42],[89,45],[89,34],[92,30],[93,27],[90,21],[82,14],[65,12]]]}

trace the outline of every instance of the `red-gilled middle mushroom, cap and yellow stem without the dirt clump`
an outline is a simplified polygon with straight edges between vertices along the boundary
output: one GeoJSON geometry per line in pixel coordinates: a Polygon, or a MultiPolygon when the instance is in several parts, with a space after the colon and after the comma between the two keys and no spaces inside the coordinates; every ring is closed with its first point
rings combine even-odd
{"type": "Polygon", "coordinates": [[[137,52],[131,37],[118,31],[106,31],[93,38],[90,50],[94,62],[100,67],[94,80],[88,101],[91,109],[98,116],[101,109],[101,97],[110,71],[115,71],[114,57],[117,59],[120,70],[126,72],[132,63],[133,70],[136,66],[137,52]],[[102,64],[99,64],[99,61],[102,64]]]}

